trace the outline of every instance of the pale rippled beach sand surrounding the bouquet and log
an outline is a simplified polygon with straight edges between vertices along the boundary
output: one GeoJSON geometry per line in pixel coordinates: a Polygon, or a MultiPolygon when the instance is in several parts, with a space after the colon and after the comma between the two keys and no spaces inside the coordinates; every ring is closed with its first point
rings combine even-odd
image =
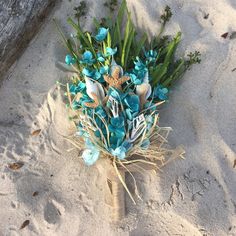
{"type": "MultiPolygon", "coordinates": [[[[236,3],[128,0],[135,23],[150,33],[159,28],[166,4],[174,13],[167,33],[183,32],[178,53],[202,53],[202,63],[186,73],[160,111],[161,125],[174,130],[171,146],[183,144],[186,160],[157,175],[136,174],[143,201],[134,206],[126,196],[127,217],[111,223],[104,175],[85,167],[64,138],[73,129],[55,83],[68,74],[55,64],[66,51],[52,18],[70,33],[66,18],[78,5],[64,0],[0,88],[1,236],[236,235],[236,3]],[[14,162],[24,165],[12,170],[14,162]]],[[[101,1],[89,6],[82,21],[87,29],[93,16],[106,14],[101,1]]]]}

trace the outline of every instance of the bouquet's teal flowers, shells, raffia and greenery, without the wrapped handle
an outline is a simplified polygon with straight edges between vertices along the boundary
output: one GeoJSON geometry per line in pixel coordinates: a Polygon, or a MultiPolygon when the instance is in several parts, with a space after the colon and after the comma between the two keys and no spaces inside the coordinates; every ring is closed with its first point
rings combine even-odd
{"type": "Polygon", "coordinates": [[[171,15],[167,6],[159,34],[150,38],[137,33],[124,0],[114,19],[94,19],[94,32],[84,32],[69,18],[76,35],[62,35],[69,52],[63,66],[75,72],[66,85],[77,129],[73,143],[83,149],[85,165],[107,159],[134,203],[122,173],[165,163],[169,152],[163,144],[170,129],[159,127],[158,106],[184,72],[200,62],[197,51],[175,57],[180,32],[162,36],[171,15]]]}

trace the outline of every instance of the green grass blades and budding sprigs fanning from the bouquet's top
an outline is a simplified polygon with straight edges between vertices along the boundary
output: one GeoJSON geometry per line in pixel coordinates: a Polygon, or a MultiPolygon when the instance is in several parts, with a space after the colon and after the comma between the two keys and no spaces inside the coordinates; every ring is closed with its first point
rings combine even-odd
{"type": "MultiPolygon", "coordinates": [[[[111,11],[117,5],[116,0],[107,1],[104,4],[109,7],[111,11]]],[[[104,42],[97,42],[89,32],[84,32],[80,26],[80,17],[85,14],[86,4],[84,1],[80,6],[75,8],[75,17],[78,20],[76,23],[72,18],[68,19],[68,23],[75,29],[77,40],[80,43],[80,48],[83,52],[89,50],[92,52],[94,58],[97,52],[106,53],[106,47],[117,48],[115,60],[117,64],[121,65],[125,71],[129,71],[134,67],[134,60],[139,57],[145,61],[145,52],[148,50],[156,50],[158,52],[157,59],[147,65],[149,74],[152,78],[151,85],[153,87],[159,84],[164,87],[170,87],[175,81],[182,77],[184,72],[193,64],[200,63],[200,53],[191,52],[187,58],[176,58],[175,52],[181,40],[181,33],[178,32],[173,39],[167,36],[162,36],[166,23],[170,20],[172,12],[169,6],[166,6],[163,14],[160,16],[161,25],[159,33],[150,41],[147,34],[137,34],[137,29],[131,19],[131,13],[128,11],[126,1],[123,0],[117,15],[112,19],[111,16],[102,18],[101,20],[94,18],[94,25],[96,29],[105,27],[109,29],[109,34],[104,42]]],[[[114,14],[113,14],[114,15],[114,14]]],[[[59,29],[61,33],[61,30],[59,29]]],[[[61,33],[62,34],[62,33],[61,33]]],[[[63,36],[63,41],[66,44],[69,52],[77,58],[81,58],[82,51],[76,51],[75,45],[70,39],[63,36]]],[[[111,57],[106,59],[105,64],[110,65],[111,57]]],[[[79,67],[79,63],[77,63],[79,67]]],[[[93,65],[95,68],[98,64],[93,65]]]]}

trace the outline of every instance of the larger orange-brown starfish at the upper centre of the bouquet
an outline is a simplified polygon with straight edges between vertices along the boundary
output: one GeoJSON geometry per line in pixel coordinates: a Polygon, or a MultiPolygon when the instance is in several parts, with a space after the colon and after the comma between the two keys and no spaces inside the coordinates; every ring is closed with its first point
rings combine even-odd
{"type": "Polygon", "coordinates": [[[121,76],[120,77],[120,68],[116,66],[112,75],[104,75],[104,80],[109,84],[109,87],[114,87],[116,89],[122,90],[121,85],[129,80],[128,76],[121,76]]]}

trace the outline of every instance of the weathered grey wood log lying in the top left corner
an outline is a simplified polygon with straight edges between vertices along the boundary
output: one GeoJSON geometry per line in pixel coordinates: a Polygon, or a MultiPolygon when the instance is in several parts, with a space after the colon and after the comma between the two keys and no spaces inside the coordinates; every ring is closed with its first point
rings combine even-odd
{"type": "Polygon", "coordinates": [[[0,79],[23,52],[57,0],[0,0],[0,79]]]}

